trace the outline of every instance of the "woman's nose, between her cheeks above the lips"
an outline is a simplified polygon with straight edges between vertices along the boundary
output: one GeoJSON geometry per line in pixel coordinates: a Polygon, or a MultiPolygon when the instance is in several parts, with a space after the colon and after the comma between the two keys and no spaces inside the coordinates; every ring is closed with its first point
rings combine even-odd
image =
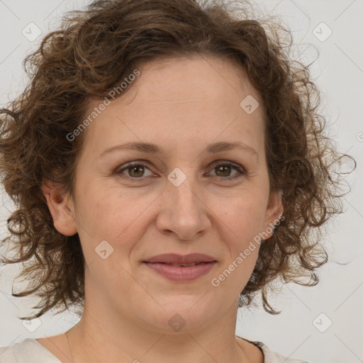
{"type": "Polygon", "coordinates": [[[156,220],[160,233],[169,237],[174,235],[179,240],[195,240],[211,228],[210,209],[192,177],[186,177],[179,186],[167,181],[160,198],[160,212],[156,220]]]}

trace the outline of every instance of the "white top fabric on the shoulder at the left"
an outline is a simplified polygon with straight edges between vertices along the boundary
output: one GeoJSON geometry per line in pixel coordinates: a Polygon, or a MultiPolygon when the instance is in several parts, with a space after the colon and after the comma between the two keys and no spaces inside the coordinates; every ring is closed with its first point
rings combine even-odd
{"type": "Polygon", "coordinates": [[[37,340],[27,338],[9,347],[0,347],[0,363],[60,363],[60,361],[37,340]]]}

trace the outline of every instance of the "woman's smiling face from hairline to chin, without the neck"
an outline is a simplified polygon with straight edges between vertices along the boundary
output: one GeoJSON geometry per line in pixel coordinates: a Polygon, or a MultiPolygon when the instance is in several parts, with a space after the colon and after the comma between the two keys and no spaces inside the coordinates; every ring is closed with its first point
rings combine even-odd
{"type": "Polygon", "coordinates": [[[237,65],[196,55],[139,70],[84,130],[72,218],[52,214],[61,233],[79,233],[86,307],[159,332],[179,314],[187,332],[235,314],[257,260],[250,242],[277,220],[281,202],[269,193],[262,99],[237,65]],[[252,113],[240,106],[247,96],[259,102],[252,113]],[[144,262],[166,253],[215,262],[175,280],[144,262]]]}

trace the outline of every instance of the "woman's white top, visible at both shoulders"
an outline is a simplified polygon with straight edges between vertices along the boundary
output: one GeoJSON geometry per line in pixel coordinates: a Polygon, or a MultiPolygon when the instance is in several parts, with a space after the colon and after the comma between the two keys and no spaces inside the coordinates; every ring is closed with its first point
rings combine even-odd
{"type": "MultiPolygon", "coordinates": [[[[248,340],[251,342],[250,340],[248,340]]],[[[272,352],[262,342],[252,342],[264,354],[264,363],[308,363],[272,352]]],[[[26,338],[9,347],[0,347],[0,363],[62,363],[36,339],[26,338]]]]}

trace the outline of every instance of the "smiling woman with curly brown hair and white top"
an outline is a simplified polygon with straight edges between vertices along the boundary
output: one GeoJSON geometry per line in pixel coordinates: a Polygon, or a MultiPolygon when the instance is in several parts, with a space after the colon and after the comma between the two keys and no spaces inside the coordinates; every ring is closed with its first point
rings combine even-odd
{"type": "Polygon", "coordinates": [[[34,318],[82,318],[0,362],[303,362],[235,336],[236,313],[258,293],[277,313],[278,278],[318,282],[337,152],[308,69],[239,10],[94,1],[28,57],[32,83],[1,110],[19,248],[3,259],[32,260],[13,295],[40,296],[34,318]]]}

